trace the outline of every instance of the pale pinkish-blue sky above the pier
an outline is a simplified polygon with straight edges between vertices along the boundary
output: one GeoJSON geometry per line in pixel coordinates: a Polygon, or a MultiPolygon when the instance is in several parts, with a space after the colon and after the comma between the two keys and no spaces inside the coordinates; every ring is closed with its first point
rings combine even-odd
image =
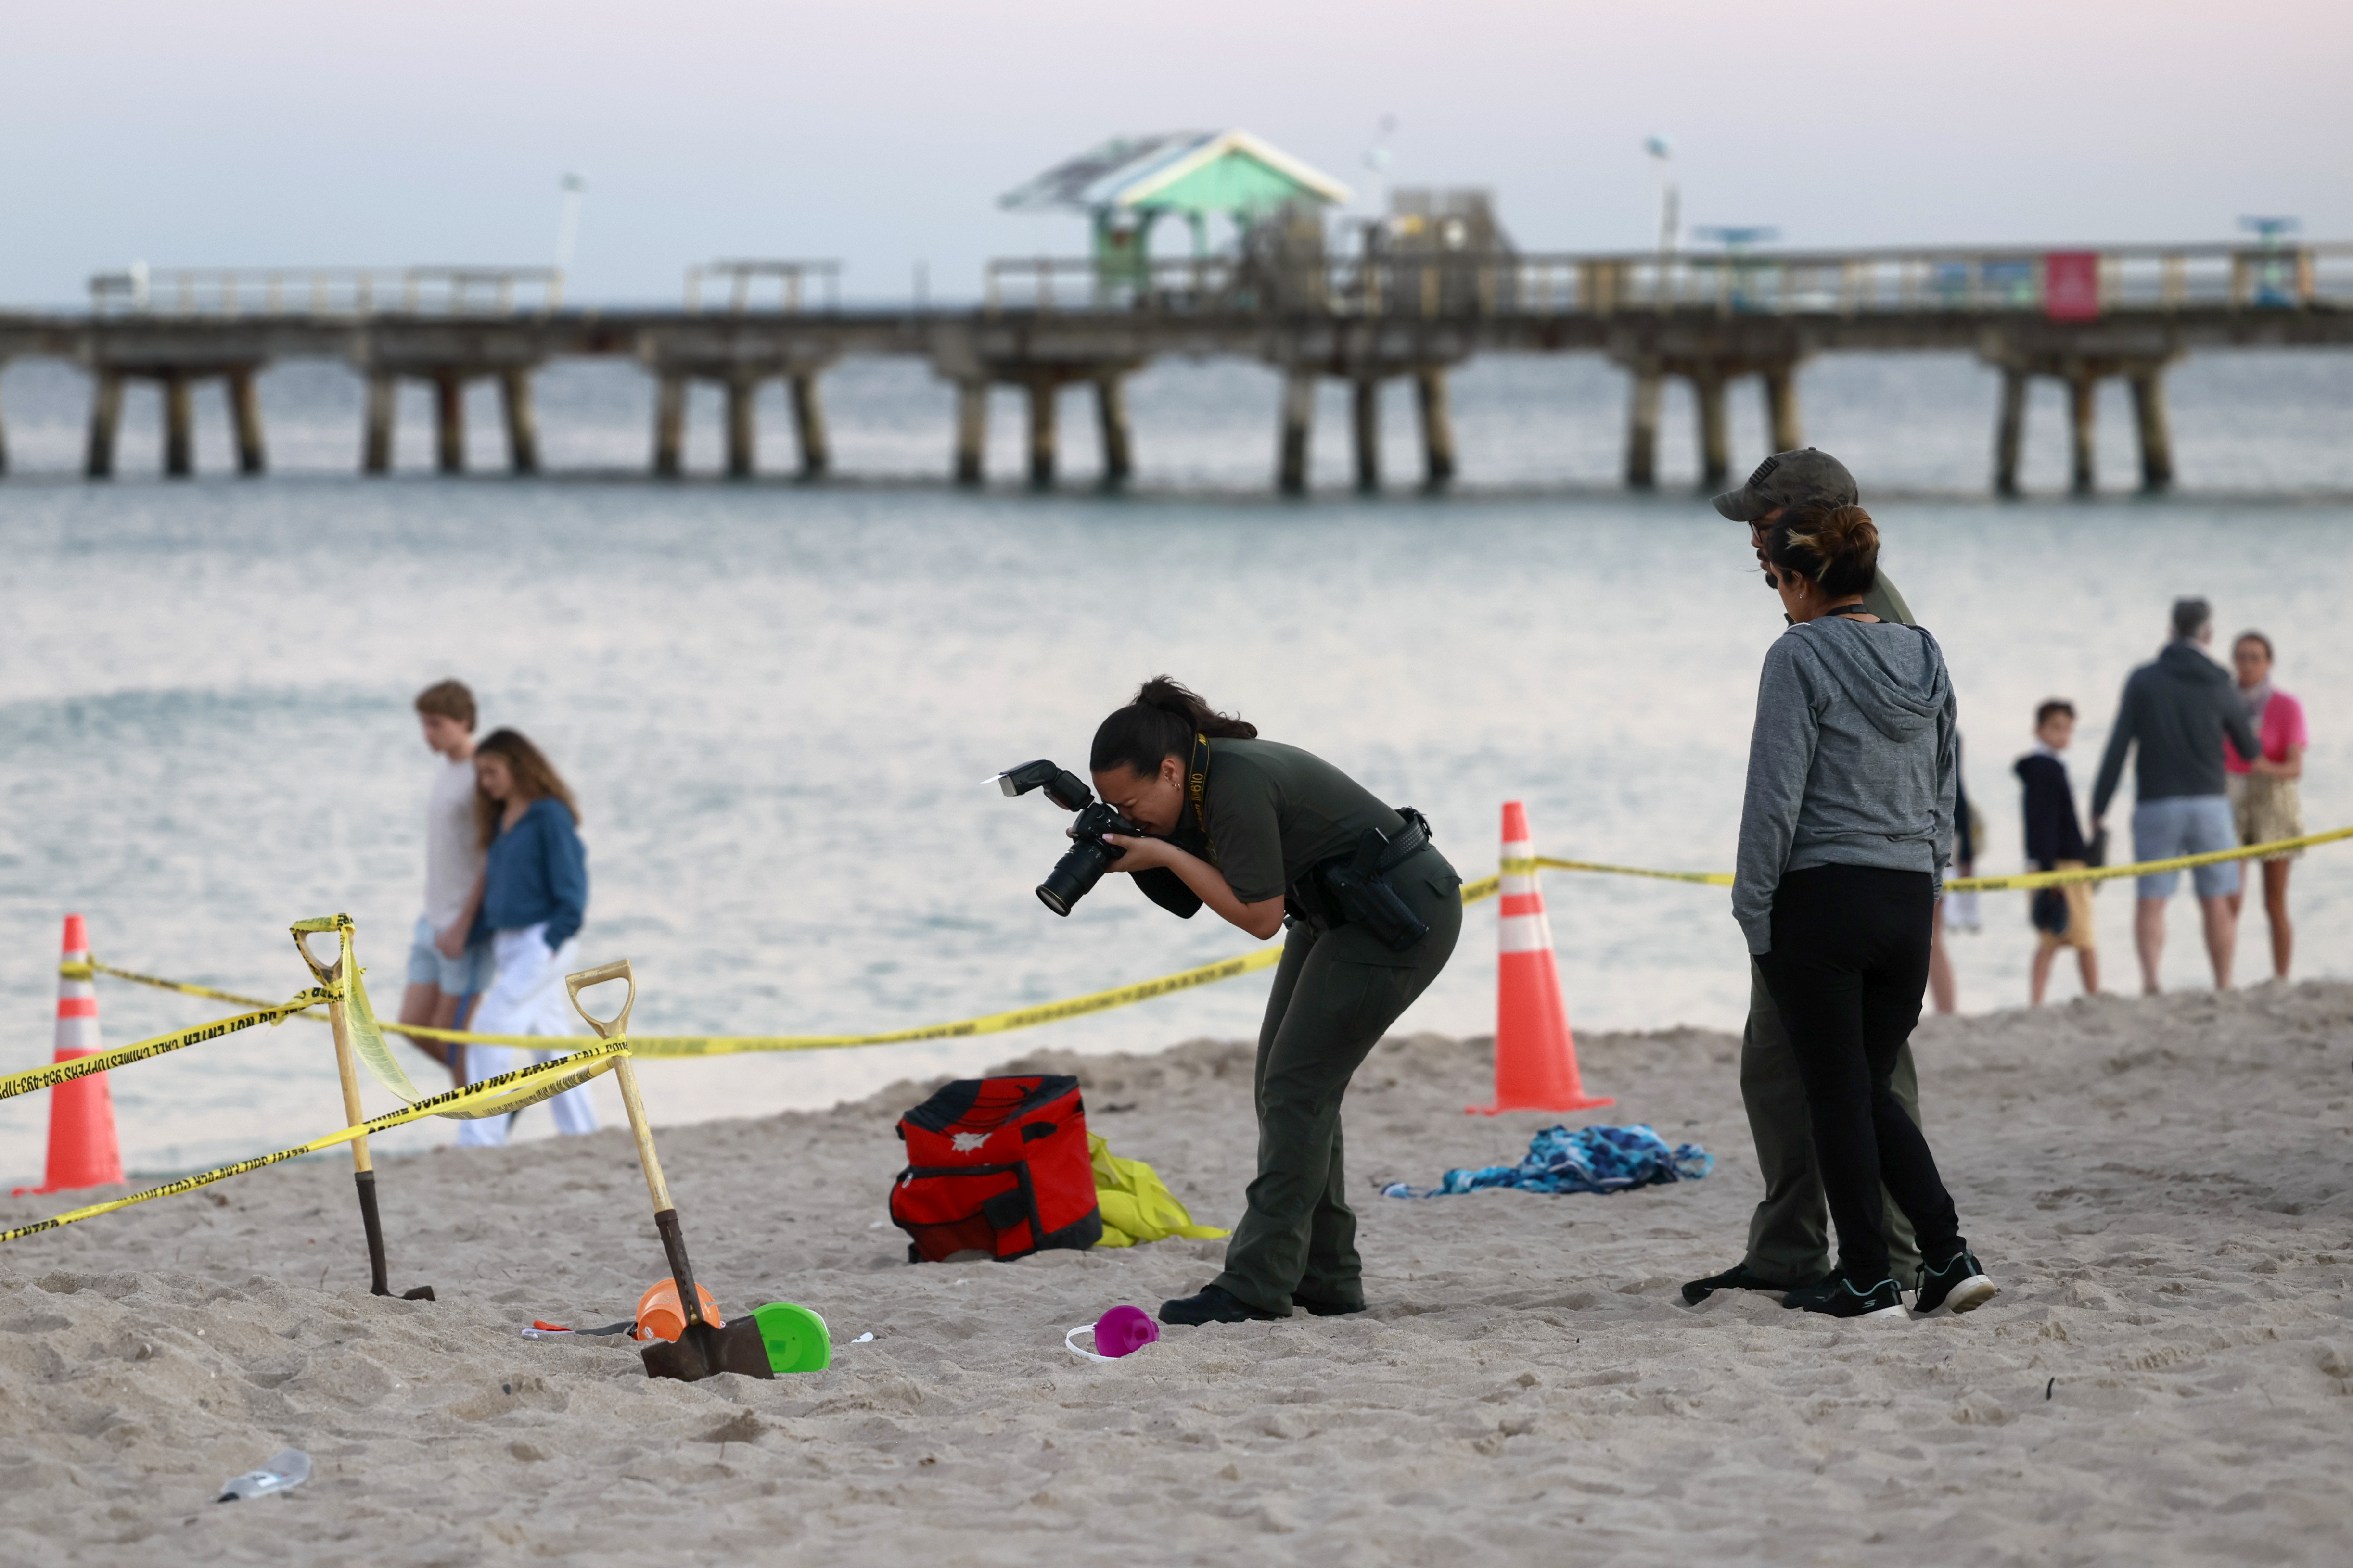
{"type": "Polygon", "coordinates": [[[995,209],[1118,132],[1245,127],[1360,190],[1497,193],[1522,249],[1687,223],[1786,244],[2353,240],[2353,7],[2280,0],[9,0],[0,303],[92,270],[513,261],[588,179],[574,299],[713,256],[972,296],[1080,254],[995,209]]]}

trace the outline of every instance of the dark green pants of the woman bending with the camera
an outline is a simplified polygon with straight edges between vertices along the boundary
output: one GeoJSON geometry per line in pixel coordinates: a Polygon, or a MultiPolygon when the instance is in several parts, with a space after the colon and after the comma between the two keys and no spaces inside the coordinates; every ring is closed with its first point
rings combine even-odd
{"type": "Polygon", "coordinates": [[[1435,849],[1391,872],[1391,886],[1428,922],[1428,936],[1391,952],[1362,926],[1318,933],[1294,924],[1266,997],[1252,1079],[1259,1175],[1214,1281],[1261,1312],[1287,1314],[1294,1295],[1365,1305],[1339,1103],[1388,1025],[1447,966],[1464,926],[1461,877],[1435,849]]]}

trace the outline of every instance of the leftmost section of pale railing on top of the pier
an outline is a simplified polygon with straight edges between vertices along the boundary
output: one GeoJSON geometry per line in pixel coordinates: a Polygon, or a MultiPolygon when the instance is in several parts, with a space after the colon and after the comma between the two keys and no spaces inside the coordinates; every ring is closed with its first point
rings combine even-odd
{"type": "Polygon", "coordinates": [[[96,273],[96,315],[541,315],[565,303],[565,275],[551,266],[407,268],[146,268],[96,273]]]}

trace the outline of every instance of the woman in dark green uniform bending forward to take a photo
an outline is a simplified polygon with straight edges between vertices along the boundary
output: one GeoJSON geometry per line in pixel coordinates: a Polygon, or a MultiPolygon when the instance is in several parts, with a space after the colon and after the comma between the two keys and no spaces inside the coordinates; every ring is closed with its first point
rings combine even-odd
{"type": "MultiPolygon", "coordinates": [[[[1289,926],[1259,1025],[1259,1173],[1226,1272],[1162,1324],[1365,1309],[1339,1103],[1358,1063],[1461,933],[1461,877],[1412,811],[1162,677],[1094,731],[1094,788],[1153,837],[1104,835],[1113,870],[1165,870],[1226,922],[1289,926]]],[[[1165,879],[1162,879],[1165,882],[1165,879]]],[[[1155,893],[1158,903],[1169,903],[1155,893]]]]}

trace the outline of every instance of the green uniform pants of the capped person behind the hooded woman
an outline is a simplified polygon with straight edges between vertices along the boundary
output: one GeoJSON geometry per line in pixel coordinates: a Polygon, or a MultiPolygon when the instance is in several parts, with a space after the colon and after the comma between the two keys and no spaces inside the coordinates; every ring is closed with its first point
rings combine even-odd
{"type": "MultiPolygon", "coordinates": [[[[1920,1074],[1913,1072],[1911,1041],[1897,1053],[1892,1079],[1904,1114],[1920,1126],[1920,1074]]],[[[1814,1119],[1805,1110],[1805,1084],[1798,1058],[1788,1048],[1781,1011],[1765,990],[1755,959],[1748,961],[1748,1027],[1741,1034],[1741,1105],[1748,1107],[1748,1133],[1758,1145],[1758,1168],[1765,1175],[1765,1201],[1748,1220],[1751,1274],[1795,1288],[1831,1272],[1831,1204],[1814,1166],[1814,1119]]],[[[1885,1187],[1887,1262],[1897,1284],[1920,1288],[1920,1244],[1911,1220],[1885,1187]]]]}

